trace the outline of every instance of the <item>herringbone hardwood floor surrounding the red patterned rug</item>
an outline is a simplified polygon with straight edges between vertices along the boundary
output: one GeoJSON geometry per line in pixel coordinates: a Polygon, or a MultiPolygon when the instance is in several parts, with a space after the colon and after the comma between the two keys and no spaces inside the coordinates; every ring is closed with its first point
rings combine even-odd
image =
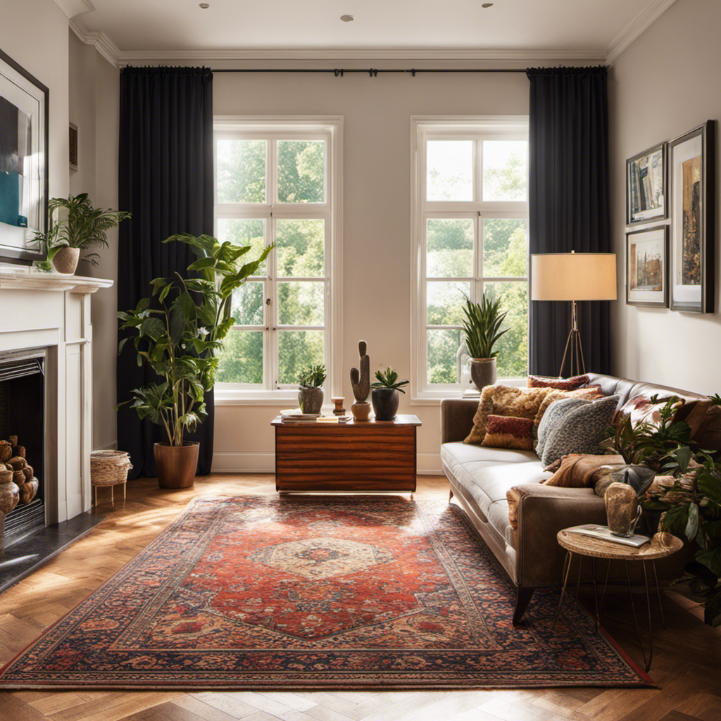
{"type": "MultiPolygon", "coordinates": [[[[275,493],[272,475],[213,475],[193,489],[128,483],[128,500],[87,536],[0,596],[0,665],[125,565],[195,495],[275,493]]],[[[418,477],[420,497],[448,497],[442,477],[418,477]]],[[[107,493],[109,498],[110,494],[107,493]]],[[[666,629],[655,627],[651,676],[658,689],[191,693],[179,691],[0,692],[0,721],[718,721],[721,630],[693,603],[665,598],[666,629]]],[[[626,596],[607,599],[604,627],[640,657],[626,596]]]]}

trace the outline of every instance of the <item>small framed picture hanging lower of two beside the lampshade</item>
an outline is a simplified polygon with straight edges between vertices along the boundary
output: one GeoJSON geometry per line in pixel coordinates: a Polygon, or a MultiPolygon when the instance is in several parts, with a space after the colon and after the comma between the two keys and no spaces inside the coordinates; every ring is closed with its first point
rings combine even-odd
{"type": "Polygon", "coordinates": [[[668,306],[668,226],[626,234],[626,302],[668,306]]]}

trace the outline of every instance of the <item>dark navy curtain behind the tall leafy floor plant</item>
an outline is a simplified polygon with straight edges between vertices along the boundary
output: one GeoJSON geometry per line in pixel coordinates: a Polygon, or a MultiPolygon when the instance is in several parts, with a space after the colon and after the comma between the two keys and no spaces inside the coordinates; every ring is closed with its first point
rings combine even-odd
{"type": "MultiPolygon", "coordinates": [[[[123,68],[120,73],[119,204],[131,211],[120,224],[118,309],[150,296],[150,281],[186,271],[185,243],[162,244],[176,233],[213,234],[213,74],[208,68],[123,68]]],[[[138,368],[131,342],[118,358],[118,402],[154,379],[138,368]]],[[[213,393],[208,418],[189,441],[200,441],[198,473],[211,471],[213,393]]],[[[118,448],[130,451],[131,477],[156,475],[153,443],[164,430],[118,412],[118,448]]]]}

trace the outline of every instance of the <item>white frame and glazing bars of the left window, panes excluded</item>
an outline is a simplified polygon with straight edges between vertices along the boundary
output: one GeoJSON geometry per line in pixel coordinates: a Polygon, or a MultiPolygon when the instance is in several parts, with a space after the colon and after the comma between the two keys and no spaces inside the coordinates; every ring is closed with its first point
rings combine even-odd
{"type": "MultiPolygon", "coordinates": [[[[213,149],[218,138],[263,138],[267,139],[266,168],[270,172],[275,157],[276,140],[324,140],[326,141],[326,185],[324,203],[276,203],[275,198],[266,197],[266,203],[217,203],[215,204],[215,234],[218,234],[218,219],[221,218],[265,218],[265,244],[275,236],[275,221],[282,218],[322,218],[325,221],[325,277],[309,278],[325,285],[325,325],[324,347],[327,379],[324,383],[326,403],[330,397],[338,395],[341,386],[342,363],[342,134],[343,118],[340,115],[301,115],[301,116],[242,116],[216,115],[213,118],[213,149]]],[[[215,154],[215,152],[214,152],[215,154]]],[[[213,161],[217,167],[217,156],[213,161]]],[[[269,178],[266,177],[266,192],[270,193],[269,178]]],[[[217,170],[214,172],[214,185],[217,185],[217,170]]],[[[216,187],[213,188],[217,198],[216,187]]],[[[275,277],[275,254],[267,259],[267,278],[256,280],[264,286],[264,298],[269,283],[277,285],[275,277]]],[[[293,278],[293,280],[304,280],[293,278]]],[[[275,344],[277,343],[278,318],[277,304],[269,309],[263,305],[263,362],[264,377],[269,384],[277,386],[278,363],[275,344]],[[268,378],[270,373],[270,378],[268,378]]],[[[242,330],[258,328],[236,326],[242,330]]],[[[294,329],[296,327],[293,327],[294,329]]],[[[306,327],[297,327],[304,330],[306,327]]],[[[230,332],[234,332],[231,329],[230,332]]],[[[284,405],[298,404],[298,386],[277,386],[260,388],[245,384],[216,383],[216,405],[284,405]]]]}

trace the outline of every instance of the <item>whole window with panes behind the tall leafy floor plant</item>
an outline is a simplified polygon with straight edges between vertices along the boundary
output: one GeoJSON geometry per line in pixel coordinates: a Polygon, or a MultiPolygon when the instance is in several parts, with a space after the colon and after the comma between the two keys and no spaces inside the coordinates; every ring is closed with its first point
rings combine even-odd
{"type": "Polygon", "coordinates": [[[221,402],[294,399],[298,372],[323,362],[327,396],[340,360],[341,118],[216,118],[216,236],[275,243],[257,273],[235,291],[236,325],[216,376],[221,402]]]}

